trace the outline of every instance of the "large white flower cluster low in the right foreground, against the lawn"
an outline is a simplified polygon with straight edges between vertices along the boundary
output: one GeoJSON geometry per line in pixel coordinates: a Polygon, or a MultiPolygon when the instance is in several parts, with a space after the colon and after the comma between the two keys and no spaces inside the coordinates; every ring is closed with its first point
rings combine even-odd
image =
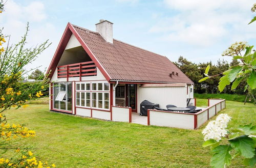
{"type": "Polygon", "coordinates": [[[220,114],[216,120],[210,121],[202,131],[204,141],[214,139],[219,142],[221,138],[227,134],[226,128],[230,119],[231,117],[227,114],[220,114]]]}

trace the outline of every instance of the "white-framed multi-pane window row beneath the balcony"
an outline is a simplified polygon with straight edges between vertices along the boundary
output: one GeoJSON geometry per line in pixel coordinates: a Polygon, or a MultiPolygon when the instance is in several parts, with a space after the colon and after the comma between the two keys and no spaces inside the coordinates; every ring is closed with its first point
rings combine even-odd
{"type": "Polygon", "coordinates": [[[108,82],[76,83],[76,106],[110,109],[108,82]]]}

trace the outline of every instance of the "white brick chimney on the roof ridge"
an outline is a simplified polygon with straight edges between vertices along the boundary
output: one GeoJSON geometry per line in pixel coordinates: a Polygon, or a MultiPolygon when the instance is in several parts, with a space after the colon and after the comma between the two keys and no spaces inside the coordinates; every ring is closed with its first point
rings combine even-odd
{"type": "Polygon", "coordinates": [[[113,23],[108,20],[99,20],[96,25],[98,32],[107,42],[113,43],[113,23]]]}

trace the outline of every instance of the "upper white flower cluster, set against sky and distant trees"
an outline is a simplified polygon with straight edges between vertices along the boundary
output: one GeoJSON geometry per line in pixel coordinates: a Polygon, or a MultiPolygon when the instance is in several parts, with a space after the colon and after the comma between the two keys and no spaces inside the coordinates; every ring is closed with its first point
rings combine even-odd
{"type": "Polygon", "coordinates": [[[228,49],[226,49],[221,55],[236,56],[239,54],[239,52],[244,50],[245,47],[249,47],[247,42],[245,41],[236,42],[236,43],[233,43],[230,47],[228,47],[228,49]]]}

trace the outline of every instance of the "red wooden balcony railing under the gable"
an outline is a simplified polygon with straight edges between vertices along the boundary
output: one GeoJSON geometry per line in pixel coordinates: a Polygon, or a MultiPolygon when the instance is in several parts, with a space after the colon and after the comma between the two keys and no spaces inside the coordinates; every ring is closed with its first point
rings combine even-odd
{"type": "Polygon", "coordinates": [[[81,77],[97,75],[97,68],[93,61],[58,66],[58,78],[81,77]]]}

